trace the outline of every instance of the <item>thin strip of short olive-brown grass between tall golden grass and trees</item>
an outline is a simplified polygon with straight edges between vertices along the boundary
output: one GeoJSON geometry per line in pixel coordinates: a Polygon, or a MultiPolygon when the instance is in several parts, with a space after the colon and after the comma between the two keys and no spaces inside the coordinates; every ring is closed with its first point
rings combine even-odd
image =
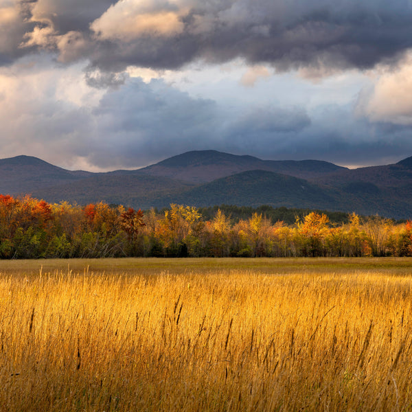
{"type": "Polygon", "coordinates": [[[68,258],[0,260],[0,275],[39,273],[105,273],[159,275],[159,273],[207,273],[213,271],[256,273],[339,273],[357,271],[412,275],[412,259],[361,258],[68,258]]]}

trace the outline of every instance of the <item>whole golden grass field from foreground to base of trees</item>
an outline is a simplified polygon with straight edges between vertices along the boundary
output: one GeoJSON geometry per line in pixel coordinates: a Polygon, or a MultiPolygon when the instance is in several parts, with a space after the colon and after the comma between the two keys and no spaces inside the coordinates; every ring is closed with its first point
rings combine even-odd
{"type": "Polygon", "coordinates": [[[412,260],[0,262],[0,411],[412,411],[412,260]]]}

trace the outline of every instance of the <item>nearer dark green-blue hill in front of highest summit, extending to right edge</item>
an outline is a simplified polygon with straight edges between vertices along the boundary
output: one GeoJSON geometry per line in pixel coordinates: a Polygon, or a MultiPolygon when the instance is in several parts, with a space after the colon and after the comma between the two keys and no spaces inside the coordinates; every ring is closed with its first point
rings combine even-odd
{"type": "Polygon", "coordinates": [[[168,203],[303,207],[406,218],[412,216],[412,202],[408,200],[412,200],[412,185],[409,192],[404,198],[405,192],[398,194],[391,187],[380,189],[373,183],[348,181],[332,187],[266,170],[250,170],[194,187],[168,203]]]}

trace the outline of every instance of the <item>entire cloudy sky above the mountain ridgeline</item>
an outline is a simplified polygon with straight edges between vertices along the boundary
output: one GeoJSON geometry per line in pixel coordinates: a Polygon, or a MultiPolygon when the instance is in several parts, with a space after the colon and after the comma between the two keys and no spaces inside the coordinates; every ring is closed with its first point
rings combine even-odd
{"type": "Polygon", "coordinates": [[[0,158],[412,156],[412,0],[0,0],[0,158]]]}

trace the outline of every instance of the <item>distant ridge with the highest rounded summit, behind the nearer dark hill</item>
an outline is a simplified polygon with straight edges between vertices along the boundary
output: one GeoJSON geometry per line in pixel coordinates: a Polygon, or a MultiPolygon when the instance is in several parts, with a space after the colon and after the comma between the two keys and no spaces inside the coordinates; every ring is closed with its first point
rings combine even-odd
{"type": "Polygon", "coordinates": [[[326,161],[275,161],[253,156],[230,155],[216,150],[186,152],[143,168],[150,176],[165,176],[190,183],[207,183],[247,170],[266,170],[299,178],[316,179],[318,176],[346,170],[326,161]]]}

